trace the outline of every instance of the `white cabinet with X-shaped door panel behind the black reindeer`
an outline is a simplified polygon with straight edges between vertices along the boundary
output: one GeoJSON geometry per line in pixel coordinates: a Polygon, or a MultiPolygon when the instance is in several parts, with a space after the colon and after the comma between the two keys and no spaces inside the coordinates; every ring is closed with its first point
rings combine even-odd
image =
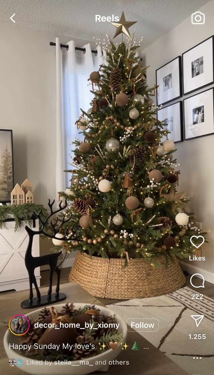
{"type": "MultiPolygon", "coordinates": [[[[15,222],[6,221],[0,229],[0,291],[24,290],[29,288],[28,272],[24,263],[25,251],[28,245],[28,234],[25,223],[14,231],[15,222]]],[[[36,228],[39,222],[36,220],[36,228]]],[[[39,257],[39,235],[33,237],[33,257],[39,257]]],[[[40,268],[35,269],[38,287],[40,286],[40,268]]]]}

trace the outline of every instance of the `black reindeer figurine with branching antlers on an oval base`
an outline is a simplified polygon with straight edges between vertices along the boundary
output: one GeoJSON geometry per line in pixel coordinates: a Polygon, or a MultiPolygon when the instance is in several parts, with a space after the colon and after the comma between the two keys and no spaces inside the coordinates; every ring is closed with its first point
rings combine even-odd
{"type": "MultiPolygon", "coordinates": [[[[28,233],[28,236],[29,236],[29,242],[28,242],[28,246],[27,246],[27,250],[26,250],[26,253],[25,253],[24,260],[25,260],[25,266],[27,268],[27,272],[28,272],[28,275],[29,275],[30,294],[29,294],[29,300],[25,300],[25,301],[21,302],[21,307],[24,308],[24,309],[30,309],[30,308],[33,308],[33,307],[44,306],[44,305],[50,305],[51,303],[59,302],[59,301],[62,301],[64,299],[66,299],[66,294],[59,293],[59,290],[60,290],[60,269],[57,267],[57,261],[58,261],[58,257],[60,256],[60,254],[62,252],[60,251],[58,253],[43,255],[42,257],[33,257],[32,254],[31,254],[32,245],[33,245],[33,236],[35,236],[36,234],[43,234],[44,236],[47,236],[49,238],[57,239],[56,234],[59,233],[60,228],[64,225],[64,223],[67,223],[71,219],[72,213],[70,214],[70,216],[68,218],[65,218],[65,216],[63,215],[63,217],[61,219],[61,223],[59,225],[57,225],[58,217],[54,220],[54,222],[51,220],[50,224],[51,224],[53,234],[46,233],[45,228],[46,228],[46,225],[48,224],[48,220],[51,218],[51,216],[57,214],[61,210],[64,210],[64,208],[66,208],[66,206],[67,206],[67,201],[65,201],[65,203],[63,204],[63,207],[61,207],[62,201],[60,201],[59,209],[56,210],[56,211],[53,211],[53,209],[52,209],[53,204],[54,204],[54,201],[51,203],[50,199],[49,199],[48,200],[48,206],[50,208],[51,213],[49,214],[49,216],[44,221],[41,218],[42,210],[40,210],[40,212],[38,214],[33,212],[33,215],[35,217],[37,217],[37,219],[39,219],[39,221],[41,223],[41,227],[38,231],[34,231],[33,229],[29,228],[29,226],[27,226],[27,225],[25,226],[25,229],[26,229],[26,231],[28,233]],[[46,264],[49,265],[49,267],[50,267],[48,295],[47,296],[41,296],[38,285],[37,285],[37,282],[36,282],[36,277],[34,275],[34,270],[35,270],[36,267],[44,266],[46,264]],[[56,293],[51,294],[52,293],[52,279],[53,279],[54,271],[57,273],[57,287],[56,287],[56,293]],[[37,297],[34,297],[34,298],[33,298],[33,284],[34,284],[34,287],[36,288],[36,294],[37,294],[37,297]]],[[[77,231],[78,228],[75,231],[73,231],[74,225],[75,225],[75,222],[70,227],[71,231],[70,231],[69,236],[67,235],[68,229],[66,229],[66,231],[64,233],[64,236],[60,237],[60,240],[62,240],[62,241],[69,241],[70,239],[78,240],[78,238],[80,236],[75,237],[75,234],[76,234],[76,231],[77,231]]]]}

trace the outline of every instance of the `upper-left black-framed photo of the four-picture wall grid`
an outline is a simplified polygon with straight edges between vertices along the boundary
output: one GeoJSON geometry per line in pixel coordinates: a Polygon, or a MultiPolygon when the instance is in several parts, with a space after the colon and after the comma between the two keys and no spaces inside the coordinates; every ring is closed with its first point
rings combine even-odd
{"type": "Polygon", "coordinates": [[[181,56],[156,70],[157,105],[166,104],[182,96],[181,56]]]}

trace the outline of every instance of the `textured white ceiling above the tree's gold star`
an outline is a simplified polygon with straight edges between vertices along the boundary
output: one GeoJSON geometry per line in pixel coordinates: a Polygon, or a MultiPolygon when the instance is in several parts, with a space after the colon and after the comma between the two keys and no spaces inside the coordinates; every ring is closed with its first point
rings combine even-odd
{"type": "MultiPolygon", "coordinates": [[[[93,36],[114,36],[115,27],[106,22],[95,22],[95,15],[120,17],[124,10],[126,20],[138,21],[136,41],[145,48],[172,30],[208,0],[0,0],[0,22],[13,24],[10,17],[16,13],[14,26],[49,31],[82,39],[93,36]]],[[[121,41],[121,35],[115,38],[121,41]]]]}

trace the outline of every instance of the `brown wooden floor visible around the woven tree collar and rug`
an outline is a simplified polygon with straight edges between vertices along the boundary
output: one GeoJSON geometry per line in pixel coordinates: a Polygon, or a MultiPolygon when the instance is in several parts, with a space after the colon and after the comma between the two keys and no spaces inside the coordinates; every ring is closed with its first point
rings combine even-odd
{"type": "MultiPolygon", "coordinates": [[[[70,272],[70,267],[61,269],[60,284],[66,284],[68,282],[69,272],[70,272]]],[[[190,278],[191,278],[191,275],[186,276],[186,283],[184,284],[184,287],[189,287],[191,289],[195,289],[195,291],[197,293],[199,293],[199,289],[193,288],[192,285],[190,284],[190,278]]],[[[57,278],[56,278],[56,274],[54,272],[53,285],[56,285],[56,282],[57,282],[57,278]]],[[[195,282],[196,286],[200,285],[201,279],[194,278],[194,282],[195,282]]],[[[41,287],[48,287],[48,285],[49,285],[49,271],[42,271],[41,272],[40,285],[41,285],[41,287]]],[[[214,285],[211,284],[210,282],[205,281],[204,282],[204,289],[200,289],[200,293],[214,299],[214,285]]],[[[116,299],[114,300],[114,299],[109,299],[109,298],[99,298],[99,300],[100,300],[100,302],[103,303],[103,305],[109,305],[109,304],[112,304],[112,303],[117,303],[117,302],[122,301],[122,300],[116,300],[116,299]]]]}

